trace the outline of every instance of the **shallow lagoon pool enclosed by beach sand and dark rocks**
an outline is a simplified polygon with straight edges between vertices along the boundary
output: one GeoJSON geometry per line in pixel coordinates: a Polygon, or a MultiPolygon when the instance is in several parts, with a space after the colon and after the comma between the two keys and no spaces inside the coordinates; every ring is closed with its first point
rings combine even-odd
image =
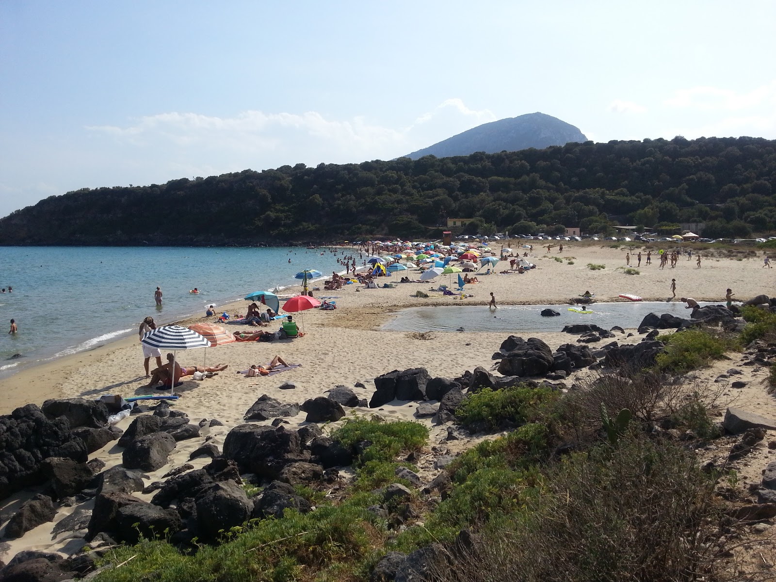
{"type": "MultiPolygon", "coordinates": [[[[713,303],[700,303],[712,305],[713,303]]],[[[388,331],[505,331],[539,332],[561,331],[569,324],[596,324],[609,329],[618,325],[623,329],[638,327],[646,314],[654,312],[690,317],[691,310],[684,303],[672,301],[642,301],[632,303],[593,303],[587,309],[592,314],[569,311],[569,305],[504,305],[495,310],[484,306],[411,307],[401,310],[397,317],[383,325],[388,331]],[[548,308],[556,310],[556,317],[542,317],[548,308]]],[[[580,306],[584,307],[584,306],[580,306]]]]}

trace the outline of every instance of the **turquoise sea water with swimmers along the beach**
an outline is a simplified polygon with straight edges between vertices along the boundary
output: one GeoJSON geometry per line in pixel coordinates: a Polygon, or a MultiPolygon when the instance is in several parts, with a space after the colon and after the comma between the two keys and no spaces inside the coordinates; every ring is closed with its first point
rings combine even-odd
{"type": "Polygon", "coordinates": [[[211,303],[298,284],[294,275],[304,268],[341,272],[342,255],[324,248],[0,247],[0,288],[13,288],[0,293],[0,377],[136,333],[148,315],[169,323],[204,315],[211,303]],[[194,287],[199,295],[189,293],[194,287]],[[6,333],[12,318],[15,336],[6,333]]]}

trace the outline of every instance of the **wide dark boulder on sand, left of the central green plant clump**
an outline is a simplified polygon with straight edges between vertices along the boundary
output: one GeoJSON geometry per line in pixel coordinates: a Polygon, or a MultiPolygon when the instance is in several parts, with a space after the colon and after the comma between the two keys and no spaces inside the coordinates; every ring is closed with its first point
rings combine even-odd
{"type": "Polygon", "coordinates": [[[237,462],[245,473],[275,479],[291,462],[307,461],[299,433],[279,426],[239,424],[223,441],[223,456],[237,462]]]}

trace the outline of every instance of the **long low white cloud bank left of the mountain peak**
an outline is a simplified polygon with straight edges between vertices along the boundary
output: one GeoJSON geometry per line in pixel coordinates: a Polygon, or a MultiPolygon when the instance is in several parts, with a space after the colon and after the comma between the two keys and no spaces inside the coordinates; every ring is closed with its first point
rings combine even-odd
{"type": "Polygon", "coordinates": [[[220,167],[217,156],[227,155],[230,167],[258,164],[269,168],[300,161],[317,164],[396,158],[496,119],[488,109],[469,109],[461,99],[446,99],[400,128],[372,123],[362,116],[333,120],[314,111],[249,110],[232,117],[159,113],[141,117],[127,126],[88,126],[86,129],[113,137],[136,151],[151,152],[164,147],[171,167],[192,162],[196,166],[220,167]],[[185,160],[176,160],[176,154],[185,160]]]}

